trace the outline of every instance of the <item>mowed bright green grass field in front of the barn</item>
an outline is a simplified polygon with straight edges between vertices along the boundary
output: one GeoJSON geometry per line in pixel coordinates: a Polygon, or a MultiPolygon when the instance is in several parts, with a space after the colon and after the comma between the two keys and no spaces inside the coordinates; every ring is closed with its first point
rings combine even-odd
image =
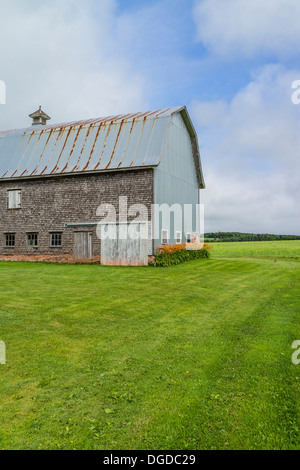
{"type": "Polygon", "coordinates": [[[0,263],[0,448],[300,449],[299,257],[0,263]]]}

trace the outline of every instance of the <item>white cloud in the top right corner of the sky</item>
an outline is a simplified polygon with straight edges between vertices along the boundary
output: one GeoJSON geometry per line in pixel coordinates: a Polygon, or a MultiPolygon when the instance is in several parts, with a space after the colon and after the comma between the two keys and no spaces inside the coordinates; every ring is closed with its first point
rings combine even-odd
{"type": "Polygon", "coordinates": [[[199,41],[228,59],[300,52],[298,0],[198,0],[194,17],[199,41]]]}

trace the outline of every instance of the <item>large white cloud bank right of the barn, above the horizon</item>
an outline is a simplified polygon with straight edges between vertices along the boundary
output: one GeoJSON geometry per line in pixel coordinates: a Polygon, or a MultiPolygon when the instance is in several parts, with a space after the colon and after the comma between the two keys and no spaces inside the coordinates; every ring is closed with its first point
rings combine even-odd
{"type": "Polygon", "coordinates": [[[206,230],[300,234],[300,70],[265,66],[231,102],[194,102],[206,230]]]}

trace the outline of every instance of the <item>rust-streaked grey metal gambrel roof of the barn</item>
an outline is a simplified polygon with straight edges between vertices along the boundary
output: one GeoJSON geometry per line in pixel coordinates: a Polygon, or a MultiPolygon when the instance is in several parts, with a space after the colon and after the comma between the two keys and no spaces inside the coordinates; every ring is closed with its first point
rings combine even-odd
{"type": "Polygon", "coordinates": [[[197,135],[184,106],[0,132],[0,180],[154,168],[174,113],[189,131],[204,188],[197,135]]]}

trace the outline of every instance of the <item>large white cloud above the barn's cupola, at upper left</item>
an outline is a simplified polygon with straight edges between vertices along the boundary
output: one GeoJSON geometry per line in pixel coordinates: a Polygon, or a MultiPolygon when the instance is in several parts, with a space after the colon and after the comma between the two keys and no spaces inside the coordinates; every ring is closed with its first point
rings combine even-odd
{"type": "Polygon", "coordinates": [[[0,0],[0,129],[26,127],[39,105],[53,123],[147,107],[144,77],[119,51],[115,0],[0,0]]]}

